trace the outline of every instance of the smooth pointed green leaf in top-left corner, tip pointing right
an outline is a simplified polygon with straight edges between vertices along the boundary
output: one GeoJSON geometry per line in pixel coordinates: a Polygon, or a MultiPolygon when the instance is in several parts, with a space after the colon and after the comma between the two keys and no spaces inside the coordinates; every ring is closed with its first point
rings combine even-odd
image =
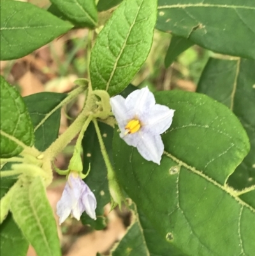
{"type": "Polygon", "coordinates": [[[1,59],[18,59],[73,26],[48,11],[20,1],[1,2],[1,59]]]}

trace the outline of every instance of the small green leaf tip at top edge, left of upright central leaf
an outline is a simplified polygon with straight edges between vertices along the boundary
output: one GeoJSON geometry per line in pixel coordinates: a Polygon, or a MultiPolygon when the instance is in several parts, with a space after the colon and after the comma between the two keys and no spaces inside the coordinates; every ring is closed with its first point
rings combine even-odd
{"type": "Polygon", "coordinates": [[[98,11],[94,0],[50,0],[65,17],[80,27],[95,27],[98,11]]]}

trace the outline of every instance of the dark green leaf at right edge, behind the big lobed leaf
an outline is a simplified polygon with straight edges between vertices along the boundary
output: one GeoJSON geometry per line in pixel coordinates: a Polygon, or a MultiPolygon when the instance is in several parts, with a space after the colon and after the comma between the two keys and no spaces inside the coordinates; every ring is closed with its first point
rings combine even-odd
{"type": "Polygon", "coordinates": [[[229,107],[240,119],[251,142],[251,151],[229,179],[242,190],[255,184],[255,61],[210,58],[197,91],[229,107]]]}

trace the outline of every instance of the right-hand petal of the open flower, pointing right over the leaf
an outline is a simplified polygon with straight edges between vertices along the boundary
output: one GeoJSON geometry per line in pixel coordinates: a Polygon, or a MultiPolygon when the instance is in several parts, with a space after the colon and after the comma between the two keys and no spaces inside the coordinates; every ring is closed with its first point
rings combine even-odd
{"type": "Polygon", "coordinates": [[[174,112],[175,110],[169,109],[169,107],[156,104],[141,119],[144,130],[152,134],[165,132],[173,121],[174,112]]]}

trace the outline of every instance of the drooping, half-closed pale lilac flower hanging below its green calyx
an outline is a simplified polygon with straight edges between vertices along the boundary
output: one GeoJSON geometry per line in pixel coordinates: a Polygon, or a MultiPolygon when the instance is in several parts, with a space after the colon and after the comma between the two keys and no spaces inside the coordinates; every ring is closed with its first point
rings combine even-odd
{"type": "Polygon", "coordinates": [[[89,186],[78,176],[77,173],[70,173],[68,182],[64,187],[62,197],[57,202],[57,215],[59,225],[71,214],[77,220],[85,211],[92,219],[96,220],[96,197],[89,186]]]}

